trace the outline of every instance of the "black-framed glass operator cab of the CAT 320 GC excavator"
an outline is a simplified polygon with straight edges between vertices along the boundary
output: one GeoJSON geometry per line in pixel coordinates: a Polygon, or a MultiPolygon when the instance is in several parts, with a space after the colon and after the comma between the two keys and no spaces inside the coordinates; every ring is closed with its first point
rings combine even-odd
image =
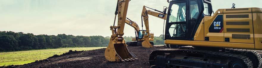
{"type": "Polygon", "coordinates": [[[170,1],[165,39],[194,40],[200,22],[204,16],[211,16],[212,12],[210,0],[170,1]]]}

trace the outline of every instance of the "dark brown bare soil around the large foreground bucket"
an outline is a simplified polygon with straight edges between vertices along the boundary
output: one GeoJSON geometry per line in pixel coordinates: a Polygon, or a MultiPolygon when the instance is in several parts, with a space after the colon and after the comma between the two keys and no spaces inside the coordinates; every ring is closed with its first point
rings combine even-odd
{"type": "Polygon", "coordinates": [[[165,47],[144,48],[128,47],[138,59],[128,62],[109,62],[104,57],[105,49],[90,51],[69,51],[62,55],[54,55],[48,59],[39,60],[24,65],[8,66],[7,68],[144,68],[149,67],[149,54],[156,49],[165,47]]]}

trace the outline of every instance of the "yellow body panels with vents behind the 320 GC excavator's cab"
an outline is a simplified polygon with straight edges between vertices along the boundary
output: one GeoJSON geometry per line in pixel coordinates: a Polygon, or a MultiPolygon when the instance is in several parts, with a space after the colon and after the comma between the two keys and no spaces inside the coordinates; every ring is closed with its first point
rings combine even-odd
{"type": "Polygon", "coordinates": [[[202,19],[194,41],[165,40],[165,44],[262,50],[262,9],[218,9],[202,19]],[[218,16],[223,21],[213,22],[218,16]],[[222,27],[221,31],[210,32],[212,25],[222,27]]]}

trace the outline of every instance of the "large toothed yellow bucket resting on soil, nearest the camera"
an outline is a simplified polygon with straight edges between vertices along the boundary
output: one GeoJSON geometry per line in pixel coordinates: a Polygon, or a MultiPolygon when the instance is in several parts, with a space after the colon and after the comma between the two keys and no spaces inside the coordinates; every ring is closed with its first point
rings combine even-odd
{"type": "Polygon", "coordinates": [[[137,59],[133,52],[128,51],[125,41],[119,39],[110,40],[105,50],[105,57],[111,62],[125,62],[137,59]]]}

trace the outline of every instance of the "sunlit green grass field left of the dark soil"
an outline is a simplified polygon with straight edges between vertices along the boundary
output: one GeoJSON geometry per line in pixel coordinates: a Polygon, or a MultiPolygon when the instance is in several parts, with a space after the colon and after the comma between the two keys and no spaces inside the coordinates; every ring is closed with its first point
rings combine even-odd
{"type": "Polygon", "coordinates": [[[30,50],[18,52],[0,52],[0,66],[8,65],[23,65],[34,62],[36,60],[46,59],[55,54],[60,55],[69,50],[87,51],[93,49],[101,49],[106,47],[84,47],[84,48],[61,48],[61,49],[43,49],[43,50],[30,50]]]}

